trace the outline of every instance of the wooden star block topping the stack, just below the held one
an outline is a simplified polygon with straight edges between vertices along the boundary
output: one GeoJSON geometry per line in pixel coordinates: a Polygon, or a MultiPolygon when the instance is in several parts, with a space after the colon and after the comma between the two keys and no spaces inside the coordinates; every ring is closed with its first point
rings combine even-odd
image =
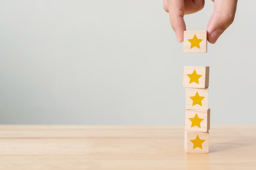
{"type": "Polygon", "coordinates": [[[184,66],[183,87],[207,88],[209,70],[209,66],[184,66]]]}

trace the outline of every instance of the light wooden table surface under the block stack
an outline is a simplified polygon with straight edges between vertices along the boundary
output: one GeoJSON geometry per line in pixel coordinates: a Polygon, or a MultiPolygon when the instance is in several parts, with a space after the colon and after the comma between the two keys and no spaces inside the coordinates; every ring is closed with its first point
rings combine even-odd
{"type": "Polygon", "coordinates": [[[256,125],[211,126],[208,154],[184,126],[0,126],[0,170],[256,170],[256,125]]]}

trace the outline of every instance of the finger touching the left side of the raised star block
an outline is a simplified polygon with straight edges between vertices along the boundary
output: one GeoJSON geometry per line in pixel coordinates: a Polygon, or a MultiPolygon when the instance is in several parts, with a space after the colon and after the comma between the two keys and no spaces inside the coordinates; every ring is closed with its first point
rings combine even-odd
{"type": "Polygon", "coordinates": [[[184,37],[183,33],[186,30],[186,25],[184,22],[184,0],[167,0],[168,2],[168,11],[171,26],[176,34],[178,42],[182,42],[184,37]]]}

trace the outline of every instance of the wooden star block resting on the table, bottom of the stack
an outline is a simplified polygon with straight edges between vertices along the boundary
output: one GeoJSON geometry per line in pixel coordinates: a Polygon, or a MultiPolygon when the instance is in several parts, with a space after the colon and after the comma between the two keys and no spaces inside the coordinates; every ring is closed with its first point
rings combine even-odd
{"type": "Polygon", "coordinates": [[[208,153],[209,132],[185,131],[184,149],[187,153],[208,153]]]}

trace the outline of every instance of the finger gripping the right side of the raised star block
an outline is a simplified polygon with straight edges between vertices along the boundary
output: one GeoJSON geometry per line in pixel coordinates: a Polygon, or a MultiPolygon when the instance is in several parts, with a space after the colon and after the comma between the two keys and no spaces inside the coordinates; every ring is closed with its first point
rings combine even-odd
{"type": "Polygon", "coordinates": [[[214,12],[207,25],[207,39],[214,44],[234,21],[237,0],[214,0],[214,12]]]}

